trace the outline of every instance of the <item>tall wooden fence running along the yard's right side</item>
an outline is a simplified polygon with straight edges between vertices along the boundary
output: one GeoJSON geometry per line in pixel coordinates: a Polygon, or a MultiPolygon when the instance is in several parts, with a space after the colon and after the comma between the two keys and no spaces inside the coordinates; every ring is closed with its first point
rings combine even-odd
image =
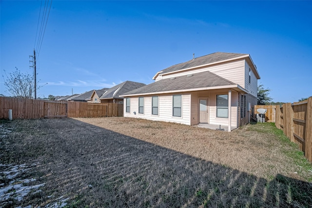
{"type": "Polygon", "coordinates": [[[306,101],[276,105],[275,126],[312,162],[312,97],[306,101]]]}

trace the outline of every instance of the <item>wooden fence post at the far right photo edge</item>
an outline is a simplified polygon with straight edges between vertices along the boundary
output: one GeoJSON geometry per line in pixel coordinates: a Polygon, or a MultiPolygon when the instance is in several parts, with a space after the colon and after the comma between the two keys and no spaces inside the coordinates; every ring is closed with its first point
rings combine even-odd
{"type": "Polygon", "coordinates": [[[312,97],[308,99],[307,103],[305,131],[305,157],[312,162],[312,97]]]}

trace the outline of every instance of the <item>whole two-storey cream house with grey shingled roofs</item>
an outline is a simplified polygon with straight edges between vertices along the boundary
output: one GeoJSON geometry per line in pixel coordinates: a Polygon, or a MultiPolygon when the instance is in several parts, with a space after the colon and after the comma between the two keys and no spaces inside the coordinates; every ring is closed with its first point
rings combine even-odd
{"type": "Polygon", "coordinates": [[[124,116],[186,125],[246,124],[257,104],[257,68],[249,54],[213,53],[156,73],[154,83],[122,96],[124,116]]]}

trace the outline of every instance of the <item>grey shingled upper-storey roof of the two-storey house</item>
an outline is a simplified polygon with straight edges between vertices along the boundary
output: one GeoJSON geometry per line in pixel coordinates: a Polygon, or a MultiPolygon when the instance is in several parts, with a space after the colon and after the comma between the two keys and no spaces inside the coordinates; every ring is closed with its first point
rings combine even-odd
{"type": "MultiPolygon", "coordinates": [[[[170,66],[164,70],[157,72],[153,79],[155,80],[159,74],[166,74],[166,73],[175,72],[175,71],[188,69],[188,68],[201,66],[201,65],[206,65],[206,64],[218,63],[218,62],[223,62],[223,61],[231,61],[231,59],[237,59],[239,57],[240,58],[249,57],[250,58],[250,60],[249,60],[250,64],[254,65],[254,62],[252,61],[249,54],[216,52],[216,53],[212,53],[209,55],[197,57],[197,58],[192,59],[188,62],[178,63],[176,65],[170,66]]],[[[258,79],[260,79],[255,65],[254,65],[254,71],[256,72],[255,73],[256,77],[258,79]]]]}

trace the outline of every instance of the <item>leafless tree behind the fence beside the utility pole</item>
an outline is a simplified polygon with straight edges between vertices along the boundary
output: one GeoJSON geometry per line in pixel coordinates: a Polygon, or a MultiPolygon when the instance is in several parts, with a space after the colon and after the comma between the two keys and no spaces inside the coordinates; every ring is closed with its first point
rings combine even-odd
{"type": "MultiPolygon", "coordinates": [[[[15,71],[6,73],[4,70],[4,85],[6,86],[6,92],[10,93],[16,98],[31,99],[34,90],[34,76],[29,73],[21,73],[20,70],[15,67],[15,71]]],[[[37,89],[39,89],[38,87],[37,89]]]]}

